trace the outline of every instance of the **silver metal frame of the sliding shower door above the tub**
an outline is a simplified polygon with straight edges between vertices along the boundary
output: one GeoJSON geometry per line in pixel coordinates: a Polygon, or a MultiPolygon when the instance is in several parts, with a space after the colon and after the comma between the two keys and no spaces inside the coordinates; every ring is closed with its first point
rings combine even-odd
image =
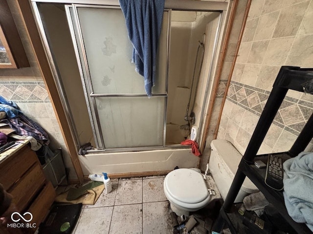
{"type": "MultiPolygon", "coordinates": [[[[58,87],[58,92],[59,95],[61,97],[61,100],[63,102],[63,106],[64,108],[67,110],[67,121],[69,123],[69,127],[70,130],[72,132],[72,136],[74,137],[74,142],[76,144],[76,148],[78,149],[80,147],[79,144],[79,139],[78,139],[78,134],[77,131],[75,129],[75,124],[74,124],[74,120],[73,117],[70,114],[70,109],[69,109],[69,105],[67,102],[67,99],[65,97],[65,91],[62,85],[62,81],[60,78],[60,74],[58,72],[58,69],[55,65],[54,59],[53,59],[53,52],[50,50],[50,46],[48,43],[48,39],[47,36],[45,34],[45,28],[43,25],[43,21],[41,19],[40,16],[40,12],[38,10],[38,5],[39,3],[51,3],[51,4],[63,4],[66,8],[66,11],[68,11],[69,13],[69,7],[71,7],[71,4],[73,2],[78,3],[79,5],[86,5],[88,4],[89,6],[93,6],[93,7],[101,7],[103,5],[106,5],[107,8],[112,7],[112,8],[120,8],[119,7],[119,2],[118,0],[31,0],[31,5],[32,5],[32,10],[33,10],[33,14],[36,20],[36,24],[38,27],[38,30],[40,32],[41,35],[41,39],[43,41],[43,45],[45,48],[45,52],[46,52],[46,56],[49,60],[50,63],[50,69],[52,71],[52,74],[54,76],[55,82],[57,84],[58,87]]],[[[207,84],[206,84],[206,92],[205,92],[205,98],[203,100],[203,107],[202,107],[202,112],[201,112],[201,125],[200,125],[200,140],[203,137],[203,132],[202,127],[203,127],[203,123],[202,121],[205,119],[205,113],[204,110],[207,108],[207,103],[208,100],[207,98],[209,97],[209,88],[211,87],[211,83],[212,83],[212,78],[214,75],[214,70],[216,68],[214,68],[214,64],[216,64],[216,61],[214,61],[214,59],[217,59],[219,57],[219,50],[220,50],[220,43],[221,43],[221,39],[223,38],[223,33],[222,33],[222,29],[223,27],[223,23],[225,21],[226,18],[226,10],[227,10],[227,5],[228,2],[214,2],[214,1],[189,1],[189,0],[165,0],[165,8],[168,11],[171,10],[180,10],[180,11],[206,11],[206,12],[219,12],[220,13],[220,20],[219,20],[219,24],[218,24],[218,28],[216,29],[216,37],[215,37],[215,41],[214,41],[214,50],[212,52],[212,60],[211,60],[211,64],[210,64],[210,72],[209,72],[209,76],[207,79],[207,84]],[[208,7],[209,6],[209,7],[208,7]]],[[[70,14],[67,13],[67,20],[71,20],[70,14]],[[68,16],[70,18],[68,18],[68,16]]],[[[168,23],[170,23],[170,14],[169,14],[169,21],[168,23]]],[[[69,28],[70,28],[70,32],[71,32],[71,37],[72,40],[75,39],[75,35],[73,35],[72,32],[74,32],[73,27],[71,27],[71,24],[69,24],[69,28]]],[[[169,38],[170,38],[170,28],[168,26],[168,38],[167,38],[167,68],[166,68],[166,95],[167,95],[167,75],[168,75],[168,57],[169,57],[169,38]]],[[[76,41],[76,39],[75,39],[76,41]]],[[[76,43],[73,43],[74,45],[74,51],[76,55],[79,55],[79,51],[78,51],[78,46],[75,47],[76,43]]],[[[77,44],[76,44],[77,45],[77,44]]],[[[77,57],[77,56],[76,56],[77,57]]],[[[83,70],[82,70],[82,64],[80,59],[77,59],[78,62],[78,67],[79,67],[79,72],[80,74],[83,74],[83,70]]],[[[87,92],[87,88],[85,86],[85,83],[83,82],[83,89],[84,89],[84,95],[85,97],[88,95],[87,92]]],[[[91,94],[91,92],[90,92],[91,94]]],[[[92,95],[96,95],[96,94],[92,94],[92,95]]],[[[165,96],[165,94],[162,94],[165,96]]],[[[87,100],[89,98],[87,97],[87,100]]],[[[165,103],[167,103],[167,96],[165,96],[165,103]]],[[[88,106],[88,110],[90,111],[90,105],[89,105],[89,101],[87,101],[87,106],[88,106]]],[[[163,146],[155,146],[155,147],[132,147],[132,148],[117,148],[117,149],[104,149],[104,150],[90,150],[91,154],[97,154],[97,153],[112,153],[112,152],[129,152],[129,151],[146,151],[146,150],[160,150],[160,149],[181,149],[181,148],[190,148],[190,146],[183,146],[183,145],[165,145],[165,136],[166,136],[166,108],[167,106],[165,105],[165,112],[164,112],[164,131],[163,131],[163,146]]],[[[91,116],[91,112],[89,112],[89,116],[91,116]]],[[[93,131],[93,135],[95,137],[95,141],[99,142],[99,129],[97,129],[94,125],[93,122],[94,121],[90,121],[91,122],[91,126],[92,126],[92,131],[93,131]]],[[[201,141],[200,141],[201,142],[201,141]]],[[[102,144],[102,142],[101,142],[102,144]]],[[[104,145],[104,143],[102,144],[104,145]]],[[[97,145],[99,146],[99,145],[97,145]]],[[[98,147],[97,147],[98,148],[98,147]]],[[[103,147],[104,148],[104,147],[103,147]]]]}

